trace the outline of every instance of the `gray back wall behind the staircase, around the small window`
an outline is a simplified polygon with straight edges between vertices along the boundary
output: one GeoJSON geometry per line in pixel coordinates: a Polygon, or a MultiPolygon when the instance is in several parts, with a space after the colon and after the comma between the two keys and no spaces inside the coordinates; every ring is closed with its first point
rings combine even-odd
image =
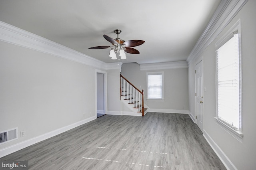
{"type": "Polygon", "coordinates": [[[138,63],[123,63],[122,75],[147,96],[146,73],[164,71],[164,101],[144,100],[150,109],[188,110],[188,69],[159,69],[140,71],[138,63]]]}

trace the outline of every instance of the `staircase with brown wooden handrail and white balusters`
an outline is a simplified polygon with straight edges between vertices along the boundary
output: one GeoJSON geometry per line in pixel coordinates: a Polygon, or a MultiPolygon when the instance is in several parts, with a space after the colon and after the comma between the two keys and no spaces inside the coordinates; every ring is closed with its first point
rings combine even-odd
{"type": "Polygon", "coordinates": [[[142,116],[146,114],[147,108],[144,108],[144,91],[140,91],[130,81],[120,74],[120,94],[121,100],[128,101],[128,104],[142,116]]]}

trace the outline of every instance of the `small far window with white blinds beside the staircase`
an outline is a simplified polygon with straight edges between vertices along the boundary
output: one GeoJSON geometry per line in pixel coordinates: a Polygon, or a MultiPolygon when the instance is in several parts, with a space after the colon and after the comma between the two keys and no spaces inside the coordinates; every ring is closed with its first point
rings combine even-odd
{"type": "Polygon", "coordinates": [[[164,72],[147,73],[147,99],[164,99],[163,96],[164,72]]]}

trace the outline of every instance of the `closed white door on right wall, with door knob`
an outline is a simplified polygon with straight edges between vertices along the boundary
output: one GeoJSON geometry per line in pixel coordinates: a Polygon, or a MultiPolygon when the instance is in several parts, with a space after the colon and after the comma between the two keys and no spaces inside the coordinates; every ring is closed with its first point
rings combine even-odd
{"type": "Polygon", "coordinates": [[[203,103],[203,67],[202,60],[196,64],[196,124],[203,132],[204,129],[204,103],[203,103]]]}

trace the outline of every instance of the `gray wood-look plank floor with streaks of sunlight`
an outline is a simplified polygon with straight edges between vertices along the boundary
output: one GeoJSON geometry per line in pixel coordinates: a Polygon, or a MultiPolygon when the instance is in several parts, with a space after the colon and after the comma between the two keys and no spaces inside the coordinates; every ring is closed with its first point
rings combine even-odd
{"type": "Polygon", "coordinates": [[[105,115],[3,158],[30,170],[225,170],[187,114],[105,115]]]}

